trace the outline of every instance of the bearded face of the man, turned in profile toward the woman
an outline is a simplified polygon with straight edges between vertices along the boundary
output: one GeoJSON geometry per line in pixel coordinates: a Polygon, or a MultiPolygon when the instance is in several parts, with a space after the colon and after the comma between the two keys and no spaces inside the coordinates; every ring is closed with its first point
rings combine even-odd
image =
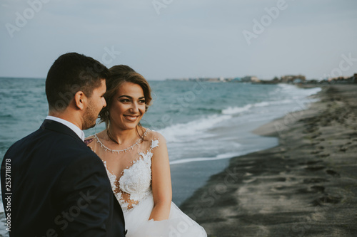
{"type": "Polygon", "coordinates": [[[101,80],[101,85],[93,90],[91,97],[88,98],[88,106],[84,111],[84,122],[82,130],[87,130],[96,125],[96,119],[103,107],[106,107],[106,100],[104,99],[106,93],[106,80],[101,80]]]}

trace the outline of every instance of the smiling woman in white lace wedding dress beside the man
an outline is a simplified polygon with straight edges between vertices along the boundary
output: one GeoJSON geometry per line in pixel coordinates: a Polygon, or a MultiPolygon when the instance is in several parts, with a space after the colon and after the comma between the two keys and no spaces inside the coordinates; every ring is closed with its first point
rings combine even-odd
{"type": "Polygon", "coordinates": [[[151,102],[146,79],[127,65],[110,69],[107,106],[99,117],[106,130],[86,143],[104,162],[124,212],[126,236],[207,236],[171,201],[169,155],[165,138],[140,124],[151,102]]]}

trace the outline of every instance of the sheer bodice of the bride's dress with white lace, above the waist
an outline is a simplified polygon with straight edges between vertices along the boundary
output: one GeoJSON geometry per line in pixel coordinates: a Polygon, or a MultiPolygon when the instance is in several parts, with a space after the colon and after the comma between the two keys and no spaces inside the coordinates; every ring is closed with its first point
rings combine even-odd
{"type": "MultiPolygon", "coordinates": [[[[106,172],[111,182],[114,195],[119,201],[123,211],[128,211],[139,204],[140,201],[146,199],[148,195],[152,194],[151,158],[153,157],[154,148],[159,147],[159,139],[151,139],[146,142],[149,145],[139,145],[136,149],[132,149],[130,152],[126,152],[125,154],[119,154],[119,152],[115,152],[108,147],[105,147],[96,136],[94,136],[94,139],[97,143],[94,152],[97,153],[99,147],[101,147],[101,150],[104,150],[107,155],[109,154],[111,156],[115,156],[116,162],[120,162],[121,158],[125,155],[128,157],[128,154],[131,158],[131,161],[128,162],[129,165],[126,166],[126,168],[121,171],[120,175],[117,176],[110,171],[111,169],[108,167],[107,161],[102,158],[103,155],[99,155],[104,162],[104,166],[106,167],[106,172]],[[146,150],[142,151],[141,149],[144,149],[144,147],[146,150]]],[[[113,166],[113,164],[116,163],[112,162],[111,166],[113,166]]]]}

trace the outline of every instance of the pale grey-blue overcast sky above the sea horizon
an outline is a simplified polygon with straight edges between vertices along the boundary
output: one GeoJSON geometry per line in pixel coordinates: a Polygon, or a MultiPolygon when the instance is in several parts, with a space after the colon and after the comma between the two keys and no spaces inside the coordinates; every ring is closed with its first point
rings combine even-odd
{"type": "Polygon", "coordinates": [[[149,80],[357,73],[356,0],[0,2],[1,77],[46,78],[73,51],[149,80]]]}

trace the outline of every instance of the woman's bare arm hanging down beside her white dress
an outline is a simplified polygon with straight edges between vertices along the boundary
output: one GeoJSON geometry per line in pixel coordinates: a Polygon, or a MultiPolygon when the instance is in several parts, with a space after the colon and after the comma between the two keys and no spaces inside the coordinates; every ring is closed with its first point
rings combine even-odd
{"type": "Polygon", "coordinates": [[[159,135],[159,147],[154,149],[151,159],[152,190],[154,196],[154,209],[151,211],[149,220],[162,221],[169,218],[172,189],[166,140],[159,135]]]}

